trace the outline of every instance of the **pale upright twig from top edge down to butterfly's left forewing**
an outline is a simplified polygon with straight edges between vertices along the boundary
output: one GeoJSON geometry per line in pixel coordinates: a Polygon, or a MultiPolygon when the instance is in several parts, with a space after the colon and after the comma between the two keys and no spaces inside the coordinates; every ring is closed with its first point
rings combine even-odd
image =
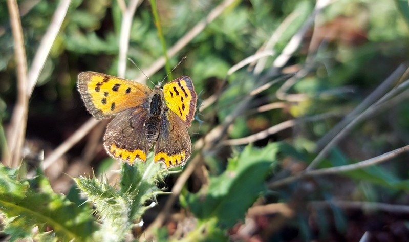
{"type": "MultiPolygon", "coordinates": [[[[132,19],[136,8],[141,3],[139,0],[131,0],[128,7],[123,13],[121,22],[121,32],[119,35],[119,57],[118,57],[118,76],[125,77],[126,72],[126,60],[129,48],[129,37],[132,26],[132,19]]],[[[123,6],[122,6],[123,7],[123,6]]],[[[140,81],[139,81],[140,82],[140,81]]]]}

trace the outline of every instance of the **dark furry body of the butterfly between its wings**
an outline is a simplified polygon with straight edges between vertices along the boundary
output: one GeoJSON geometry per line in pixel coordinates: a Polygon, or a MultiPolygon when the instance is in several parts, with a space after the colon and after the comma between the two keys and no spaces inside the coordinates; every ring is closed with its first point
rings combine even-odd
{"type": "Polygon", "coordinates": [[[163,100],[163,91],[156,87],[149,95],[149,112],[146,119],[146,140],[152,145],[159,137],[162,114],[166,104],[163,100]]]}

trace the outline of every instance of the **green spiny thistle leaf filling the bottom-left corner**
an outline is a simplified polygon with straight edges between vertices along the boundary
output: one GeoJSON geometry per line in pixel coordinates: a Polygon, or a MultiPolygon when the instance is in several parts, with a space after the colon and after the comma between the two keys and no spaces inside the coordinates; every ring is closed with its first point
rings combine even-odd
{"type": "Polygon", "coordinates": [[[0,212],[5,215],[3,232],[11,235],[10,241],[38,236],[62,241],[90,239],[96,230],[90,208],[78,207],[54,193],[43,175],[18,180],[18,172],[19,168],[0,165],[0,212]],[[38,233],[33,233],[35,227],[38,233]],[[53,232],[45,234],[46,230],[53,232]]]}

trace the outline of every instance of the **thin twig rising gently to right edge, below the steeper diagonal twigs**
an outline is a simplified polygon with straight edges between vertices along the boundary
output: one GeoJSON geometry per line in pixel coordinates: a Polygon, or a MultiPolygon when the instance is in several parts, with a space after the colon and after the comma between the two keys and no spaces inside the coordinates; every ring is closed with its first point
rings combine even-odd
{"type": "Polygon", "coordinates": [[[357,169],[362,169],[368,166],[373,166],[376,164],[379,164],[384,161],[388,161],[392,158],[395,158],[396,156],[400,155],[403,152],[406,152],[409,150],[409,145],[403,146],[401,148],[392,150],[390,152],[386,152],[380,156],[361,161],[355,164],[350,164],[350,165],[344,165],[344,166],[336,166],[336,167],[331,167],[331,168],[325,168],[325,169],[319,169],[319,170],[308,170],[303,173],[294,175],[292,177],[284,178],[275,182],[272,182],[268,185],[269,189],[274,189],[286,184],[289,184],[291,182],[294,182],[296,180],[306,178],[306,177],[312,177],[312,176],[317,176],[317,175],[328,175],[328,174],[337,174],[337,173],[342,173],[342,172],[347,172],[347,171],[352,171],[352,170],[357,170],[357,169]]]}

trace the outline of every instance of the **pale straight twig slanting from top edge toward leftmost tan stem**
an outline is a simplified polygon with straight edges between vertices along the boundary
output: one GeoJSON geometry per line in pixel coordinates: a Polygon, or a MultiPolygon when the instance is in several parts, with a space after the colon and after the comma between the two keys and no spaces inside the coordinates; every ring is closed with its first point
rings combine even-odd
{"type": "Polygon", "coordinates": [[[35,53],[33,63],[31,64],[30,70],[28,72],[28,86],[27,92],[31,96],[34,86],[38,81],[38,77],[44,68],[47,57],[50,54],[51,47],[57,37],[57,34],[61,28],[62,22],[66,17],[68,7],[70,6],[71,0],[61,0],[58,4],[53,19],[51,20],[50,26],[44,37],[41,39],[41,43],[35,53]]]}

